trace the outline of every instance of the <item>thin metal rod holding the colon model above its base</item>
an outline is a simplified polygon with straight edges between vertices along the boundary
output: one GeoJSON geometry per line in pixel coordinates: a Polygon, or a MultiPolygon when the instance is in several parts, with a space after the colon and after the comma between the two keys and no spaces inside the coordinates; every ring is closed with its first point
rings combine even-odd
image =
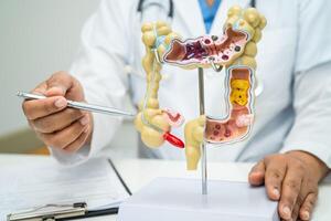
{"type": "MultiPolygon", "coordinates": [[[[203,69],[199,67],[199,105],[200,115],[204,115],[204,78],[203,69]]],[[[207,194],[207,166],[206,166],[206,148],[204,141],[201,144],[201,170],[202,170],[202,194],[207,194]]]]}

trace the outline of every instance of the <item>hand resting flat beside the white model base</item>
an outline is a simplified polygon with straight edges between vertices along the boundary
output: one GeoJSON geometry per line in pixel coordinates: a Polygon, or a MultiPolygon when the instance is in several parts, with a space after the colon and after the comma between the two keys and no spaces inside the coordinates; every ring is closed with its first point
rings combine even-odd
{"type": "Polygon", "coordinates": [[[271,200],[279,201],[281,220],[310,220],[318,197],[318,183],[328,167],[305,151],[265,157],[249,172],[249,183],[265,185],[271,200]]]}

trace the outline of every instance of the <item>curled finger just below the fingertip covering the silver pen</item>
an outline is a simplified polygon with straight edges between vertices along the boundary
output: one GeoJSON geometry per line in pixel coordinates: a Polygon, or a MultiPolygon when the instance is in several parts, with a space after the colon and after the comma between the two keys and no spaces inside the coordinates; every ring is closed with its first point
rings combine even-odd
{"type": "MultiPolygon", "coordinates": [[[[74,109],[74,108],[66,108],[58,113],[38,118],[32,122],[34,129],[40,133],[54,133],[56,130],[61,130],[72,123],[76,122],[78,118],[82,118],[84,112],[74,109]]],[[[87,123],[84,122],[85,118],[81,119],[82,125],[86,125],[87,123]]]]}

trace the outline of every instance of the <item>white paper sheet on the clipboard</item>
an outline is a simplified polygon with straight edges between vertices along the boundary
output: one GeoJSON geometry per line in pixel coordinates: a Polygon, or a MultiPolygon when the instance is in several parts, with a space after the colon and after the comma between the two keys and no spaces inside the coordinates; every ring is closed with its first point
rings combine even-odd
{"type": "Polygon", "coordinates": [[[127,197],[107,159],[92,159],[73,168],[53,160],[0,168],[1,221],[8,213],[47,203],[86,202],[95,210],[116,207],[127,197]]]}

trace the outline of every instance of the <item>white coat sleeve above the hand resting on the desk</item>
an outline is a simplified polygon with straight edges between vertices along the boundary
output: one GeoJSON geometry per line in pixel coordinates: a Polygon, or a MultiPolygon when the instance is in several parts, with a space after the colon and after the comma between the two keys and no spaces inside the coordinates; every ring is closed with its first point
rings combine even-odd
{"type": "Polygon", "coordinates": [[[303,150],[331,168],[330,1],[302,1],[293,77],[296,119],[281,152],[303,150]]]}

